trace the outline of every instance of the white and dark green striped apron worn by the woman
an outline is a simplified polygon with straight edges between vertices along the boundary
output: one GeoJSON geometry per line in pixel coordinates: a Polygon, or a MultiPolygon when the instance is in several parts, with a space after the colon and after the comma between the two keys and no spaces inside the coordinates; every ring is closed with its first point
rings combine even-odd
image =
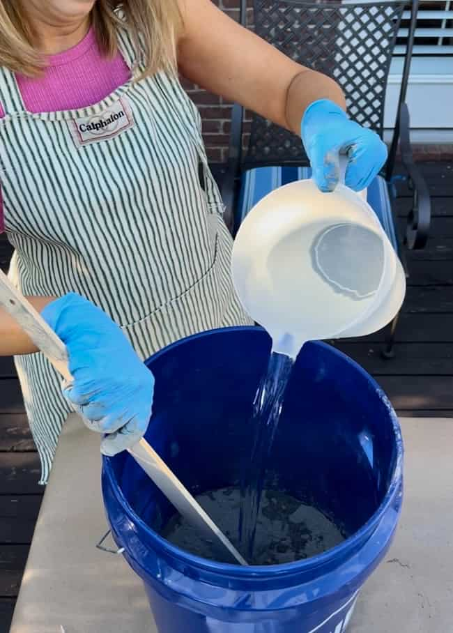
{"type": "MultiPolygon", "coordinates": [[[[118,43],[132,76],[132,43],[118,43]]],[[[26,295],[75,291],[118,323],[144,359],[182,337],[250,323],[231,285],[231,237],[201,121],[158,73],[91,107],[26,112],[0,70],[0,169],[10,279],[26,295]]],[[[41,354],[15,359],[47,481],[70,406],[41,354]]]]}

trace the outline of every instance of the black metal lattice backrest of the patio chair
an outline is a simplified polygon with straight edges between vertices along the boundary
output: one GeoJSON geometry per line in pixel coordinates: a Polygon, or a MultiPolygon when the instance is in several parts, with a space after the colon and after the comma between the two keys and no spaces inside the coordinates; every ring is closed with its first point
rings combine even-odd
{"type": "MultiPolygon", "coordinates": [[[[385,91],[407,2],[254,0],[256,33],[294,61],[334,78],[348,113],[383,135],[385,91]]],[[[308,165],[300,138],[255,115],[244,167],[308,165]]]]}

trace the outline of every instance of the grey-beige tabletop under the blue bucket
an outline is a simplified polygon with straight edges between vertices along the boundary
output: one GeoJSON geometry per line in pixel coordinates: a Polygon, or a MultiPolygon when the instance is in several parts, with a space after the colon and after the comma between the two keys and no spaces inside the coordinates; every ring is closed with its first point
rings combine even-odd
{"type": "MultiPolygon", "coordinates": [[[[401,425],[401,524],[348,633],[453,632],[453,420],[401,425]]],[[[95,548],[105,531],[99,438],[73,416],[56,452],[11,633],[156,633],[139,579],[121,556],[95,548]]]]}

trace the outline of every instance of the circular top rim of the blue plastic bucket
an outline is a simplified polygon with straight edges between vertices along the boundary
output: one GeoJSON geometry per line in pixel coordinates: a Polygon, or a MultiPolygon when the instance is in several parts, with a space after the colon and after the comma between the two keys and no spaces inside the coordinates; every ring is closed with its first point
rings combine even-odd
{"type": "MultiPolygon", "coordinates": [[[[192,336],[186,337],[182,340],[178,340],[170,345],[162,348],[160,351],[156,352],[145,361],[146,366],[148,366],[153,360],[159,358],[164,353],[169,351],[169,349],[174,349],[181,344],[184,344],[188,340],[194,340],[201,337],[206,337],[208,335],[215,335],[225,332],[233,332],[233,331],[256,331],[261,333],[266,333],[261,327],[256,326],[233,326],[229,328],[216,328],[214,330],[207,330],[206,332],[201,332],[194,334],[192,336]]],[[[390,485],[385,493],[383,501],[378,506],[376,511],[371,514],[371,517],[368,519],[363,526],[353,533],[351,536],[347,537],[344,541],[324,551],[322,554],[318,554],[316,556],[311,556],[309,558],[302,558],[301,560],[295,560],[293,563],[282,563],[279,565],[238,565],[238,563],[219,563],[215,560],[208,560],[207,558],[201,558],[201,556],[197,556],[196,554],[190,554],[190,552],[181,549],[180,547],[176,547],[176,545],[171,544],[169,541],[164,539],[164,537],[160,536],[153,528],[148,526],[148,524],[143,521],[139,517],[139,515],[133,510],[132,506],[125,498],[121,487],[118,485],[116,478],[113,474],[112,462],[115,457],[107,457],[106,455],[102,455],[102,476],[107,477],[109,481],[109,485],[112,491],[112,494],[116,496],[116,500],[121,504],[123,511],[127,515],[128,519],[132,521],[132,523],[137,524],[137,527],[144,531],[144,533],[148,533],[151,535],[156,549],[160,549],[165,554],[177,558],[181,561],[181,563],[185,565],[193,565],[198,569],[204,570],[210,574],[220,574],[225,576],[227,574],[229,577],[237,577],[243,579],[259,579],[263,580],[266,577],[289,577],[294,574],[300,574],[302,572],[309,572],[316,567],[320,567],[321,565],[325,565],[330,563],[332,560],[336,558],[342,558],[343,554],[346,554],[348,551],[354,550],[359,547],[360,544],[369,540],[369,537],[374,533],[376,528],[381,522],[384,514],[389,509],[390,505],[394,501],[394,496],[397,494],[399,488],[401,488],[402,482],[402,473],[403,473],[403,460],[404,460],[404,445],[403,438],[401,435],[401,427],[399,425],[399,420],[397,418],[397,414],[395,413],[390,400],[385,395],[383,389],[378,385],[378,383],[374,380],[372,376],[368,374],[358,363],[355,362],[352,358],[349,358],[345,353],[335,349],[332,345],[329,345],[325,342],[321,341],[309,341],[308,345],[314,345],[318,347],[322,347],[323,349],[327,349],[329,353],[333,353],[334,356],[338,358],[345,358],[348,363],[351,363],[355,369],[357,369],[362,376],[364,376],[369,384],[374,390],[376,394],[383,402],[387,413],[389,414],[390,420],[392,422],[392,428],[394,432],[395,444],[397,447],[397,459],[394,464],[394,471],[392,473],[392,479],[390,480],[390,485]]]]}

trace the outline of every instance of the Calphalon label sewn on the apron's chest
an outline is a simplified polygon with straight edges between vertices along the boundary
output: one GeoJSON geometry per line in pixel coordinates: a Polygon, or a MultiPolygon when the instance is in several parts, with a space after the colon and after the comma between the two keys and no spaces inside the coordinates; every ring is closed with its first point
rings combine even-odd
{"type": "Polygon", "coordinates": [[[126,98],[122,97],[98,114],[70,121],[70,130],[75,144],[81,147],[112,139],[133,125],[132,110],[126,98]]]}

